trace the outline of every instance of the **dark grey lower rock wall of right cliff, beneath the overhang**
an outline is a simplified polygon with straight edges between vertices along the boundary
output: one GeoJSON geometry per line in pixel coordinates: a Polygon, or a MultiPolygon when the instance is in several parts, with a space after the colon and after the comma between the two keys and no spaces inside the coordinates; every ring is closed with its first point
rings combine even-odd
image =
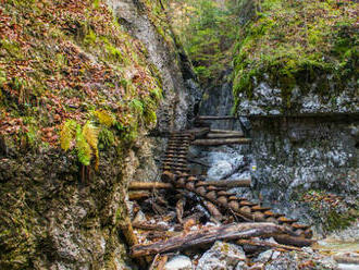
{"type": "Polygon", "coordinates": [[[358,217],[358,115],[250,116],[255,191],[319,233],[358,217]]]}

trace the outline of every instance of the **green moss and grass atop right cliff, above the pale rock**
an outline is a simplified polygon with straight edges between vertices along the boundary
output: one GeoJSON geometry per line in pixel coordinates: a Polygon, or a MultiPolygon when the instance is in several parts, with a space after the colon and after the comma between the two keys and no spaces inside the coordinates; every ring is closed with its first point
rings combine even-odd
{"type": "Polygon", "coordinates": [[[325,95],[327,76],[337,83],[338,90],[349,79],[358,81],[357,10],[355,1],[257,2],[256,16],[240,27],[235,47],[236,106],[240,93],[252,98],[255,78],[281,88],[284,109],[290,108],[296,85],[306,89],[321,76],[324,79],[318,88],[325,95]]]}

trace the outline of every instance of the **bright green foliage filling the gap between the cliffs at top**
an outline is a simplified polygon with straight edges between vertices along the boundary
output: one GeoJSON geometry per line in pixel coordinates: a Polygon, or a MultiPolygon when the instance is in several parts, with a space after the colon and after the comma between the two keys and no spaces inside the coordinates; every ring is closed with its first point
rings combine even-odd
{"type": "Polygon", "coordinates": [[[172,24],[202,85],[216,84],[230,66],[237,30],[234,1],[171,1],[172,24]]]}

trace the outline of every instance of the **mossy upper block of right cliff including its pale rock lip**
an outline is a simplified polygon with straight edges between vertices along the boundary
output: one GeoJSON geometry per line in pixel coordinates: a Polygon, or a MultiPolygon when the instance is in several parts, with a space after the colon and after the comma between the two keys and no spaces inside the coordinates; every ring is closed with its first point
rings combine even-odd
{"type": "Polygon", "coordinates": [[[239,113],[357,112],[357,8],[355,1],[332,0],[265,0],[252,7],[257,15],[242,26],[234,58],[239,113]]]}

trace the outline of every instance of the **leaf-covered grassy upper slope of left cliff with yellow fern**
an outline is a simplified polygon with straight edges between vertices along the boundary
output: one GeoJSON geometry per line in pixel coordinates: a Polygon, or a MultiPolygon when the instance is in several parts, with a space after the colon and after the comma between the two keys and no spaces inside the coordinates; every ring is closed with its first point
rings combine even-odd
{"type": "Polygon", "coordinates": [[[99,151],[154,126],[159,72],[106,1],[4,0],[0,14],[1,137],[98,167],[99,151]]]}

